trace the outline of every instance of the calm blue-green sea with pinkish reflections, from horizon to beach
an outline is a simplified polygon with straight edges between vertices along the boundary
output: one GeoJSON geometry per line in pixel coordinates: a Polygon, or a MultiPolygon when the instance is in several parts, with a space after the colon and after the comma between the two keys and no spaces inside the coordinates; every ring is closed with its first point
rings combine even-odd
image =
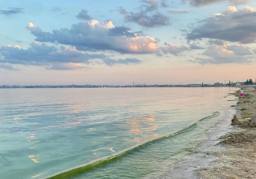
{"type": "Polygon", "coordinates": [[[232,119],[235,90],[0,89],[0,178],[172,178],[166,171],[232,119]]]}

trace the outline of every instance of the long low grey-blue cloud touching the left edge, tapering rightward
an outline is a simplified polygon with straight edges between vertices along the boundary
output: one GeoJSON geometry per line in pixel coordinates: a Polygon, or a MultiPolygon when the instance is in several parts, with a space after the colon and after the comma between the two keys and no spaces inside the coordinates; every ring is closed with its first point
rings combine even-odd
{"type": "Polygon", "coordinates": [[[88,54],[80,52],[76,48],[57,48],[47,46],[38,42],[31,43],[28,49],[22,49],[19,46],[2,46],[0,47],[0,68],[12,69],[9,64],[22,64],[34,66],[46,66],[47,69],[70,70],[77,68],[87,68],[94,61],[108,66],[118,64],[138,64],[139,59],[112,59],[104,54],[88,54]]]}

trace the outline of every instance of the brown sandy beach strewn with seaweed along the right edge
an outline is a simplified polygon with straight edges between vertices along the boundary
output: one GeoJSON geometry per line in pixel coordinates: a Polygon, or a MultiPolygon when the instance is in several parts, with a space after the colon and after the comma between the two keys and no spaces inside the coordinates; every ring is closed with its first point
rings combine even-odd
{"type": "MultiPolygon", "coordinates": [[[[237,90],[234,95],[239,97],[239,88],[237,90]]],[[[245,88],[243,99],[232,107],[236,108],[236,116],[241,124],[234,125],[235,132],[221,137],[218,145],[225,149],[213,153],[217,159],[197,170],[199,179],[256,178],[256,127],[250,124],[256,118],[256,92],[252,92],[252,88],[245,88]]]]}

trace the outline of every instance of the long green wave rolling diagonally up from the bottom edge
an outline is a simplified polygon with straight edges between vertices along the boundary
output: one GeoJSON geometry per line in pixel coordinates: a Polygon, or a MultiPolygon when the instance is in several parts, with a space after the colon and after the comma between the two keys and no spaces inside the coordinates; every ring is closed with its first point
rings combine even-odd
{"type": "Polygon", "coordinates": [[[148,142],[146,142],[144,144],[141,144],[139,146],[136,146],[134,148],[128,149],[127,151],[124,151],[124,152],[122,152],[118,155],[114,155],[112,157],[109,157],[109,158],[106,158],[106,159],[103,159],[103,160],[99,160],[95,163],[91,163],[89,165],[78,167],[78,168],[75,168],[73,170],[69,170],[69,171],[66,171],[66,172],[59,173],[55,176],[50,177],[49,179],[68,179],[68,178],[71,178],[71,177],[78,176],[79,174],[82,174],[84,172],[88,172],[88,171],[93,170],[97,167],[107,165],[107,164],[109,164],[109,163],[111,163],[115,160],[118,160],[118,159],[122,158],[123,156],[129,155],[129,154],[131,154],[135,151],[144,150],[145,148],[147,148],[147,146],[150,146],[150,145],[152,145],[152,144],[154,144],[158,141],[164,140],[164,139],[169,138],[169,137],[173,137],[173,136],[178,135],[178,134],[182,134],[182,133],[191,131],[195,127],[197,127],[197,123],[194,123],[194,124],[184,128],[183,130],[180,130],[180,131],[175,132],[173,134],[169,134],[169,135],[166,135],[164,137],[160,137],[160,138],[148,141],[148,142]]]}

